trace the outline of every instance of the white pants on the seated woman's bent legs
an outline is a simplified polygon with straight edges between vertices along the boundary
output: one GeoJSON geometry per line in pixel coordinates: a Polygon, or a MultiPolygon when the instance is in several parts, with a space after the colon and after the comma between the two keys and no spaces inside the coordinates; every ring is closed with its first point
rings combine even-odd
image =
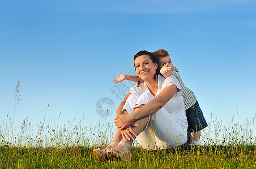
{"type": "MultiPolygon", "coordinates": [[[[133,110],[148,103],[155,97],[145,92],[142,95],[131,94],[123,110],[133,113],[133,110]]],[[[170,149],[187,142],[187,125],[182,124],[167,112],[165,108],[159,109],[150,115],[144,130],[137,137],[138,143],[148,150],[170,149]]]]}

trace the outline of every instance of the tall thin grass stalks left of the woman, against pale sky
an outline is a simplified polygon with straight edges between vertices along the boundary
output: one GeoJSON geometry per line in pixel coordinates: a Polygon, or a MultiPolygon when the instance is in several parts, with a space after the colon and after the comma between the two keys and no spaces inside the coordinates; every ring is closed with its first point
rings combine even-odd
{"type": "MultiPolygon", "coordinates": [[[[52,120],[46,122],[47,106],[44,116],[39,124],[32,126],[28,117],[22,121],[17,131],[12,127],[13,121],[8,116],[6,121],[1,121],[0,125],[0,146],[19,146],[19,147],[54,147],[65,148],[69,146],[105,146],[113,139],[113,124],[106,122],[102,118],[97,124],[84,126],[84,117],[79,121],[69,119],[63,126],[52,120]]],[[[59,113],[59,118],[61,113],[59,113]]]]}

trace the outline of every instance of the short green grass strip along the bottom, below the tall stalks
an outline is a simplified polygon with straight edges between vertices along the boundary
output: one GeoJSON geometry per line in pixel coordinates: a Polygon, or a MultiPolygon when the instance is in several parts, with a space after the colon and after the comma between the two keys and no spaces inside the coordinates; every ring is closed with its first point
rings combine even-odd
{"type": "Polygon", "coordinates": [[[86,146],[1,146],[0,168],[255,168],[256,146],[186,146],[165,151],[133,147],[127,161],[101,162],[86,146]]]}

